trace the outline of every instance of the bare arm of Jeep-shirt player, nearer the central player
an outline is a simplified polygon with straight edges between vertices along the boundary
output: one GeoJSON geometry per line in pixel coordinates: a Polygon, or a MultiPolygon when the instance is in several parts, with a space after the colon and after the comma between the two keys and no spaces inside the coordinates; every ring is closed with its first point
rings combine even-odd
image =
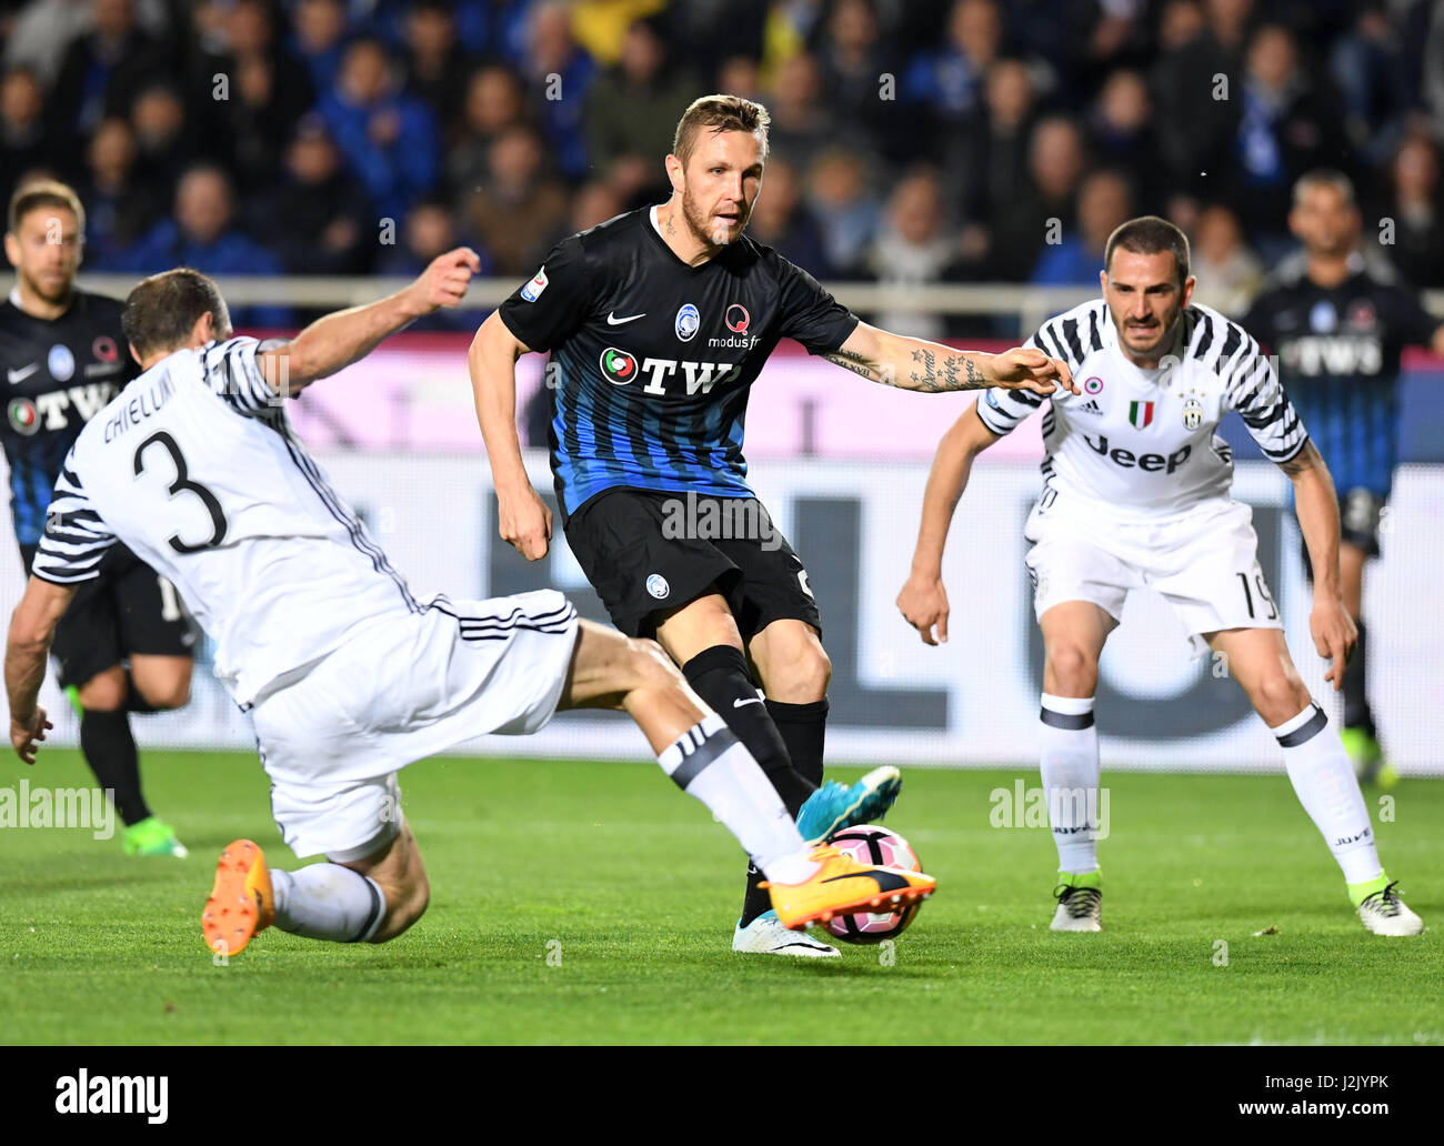
{"type": "Polygon", "coordinates": [[[924,644],[937,645],[947,641],[947,590],[943,587],[943,547],[947,544],[947,527],[953,521],[973,459],[998,440],[998,434],[983,426],[978,407],[953,423],[943,434],[933,456],[933,468],[927,473],[927,489],[923,492],[923,521],[917,531],[917,546],[913,550],[913,572],[898,593],[898,609],[907,622],[918,631],[924,644]],[[934,638],[933,629],[937,629],[934,638]]]}

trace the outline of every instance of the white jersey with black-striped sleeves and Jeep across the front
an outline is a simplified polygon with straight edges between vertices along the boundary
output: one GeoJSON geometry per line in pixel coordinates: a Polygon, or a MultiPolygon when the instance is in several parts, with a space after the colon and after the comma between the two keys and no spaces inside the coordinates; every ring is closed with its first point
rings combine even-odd
{"type": "Polygon", "coordinates": [[[1158,369],[1128,359],[1102,299],[1050,319],[1024,345],[1066,361],[1083,391],[1044,398],[989,390],[978,401],[996,434],[1048,403],[1040,505],[1077,498],[1129,520],[1227,498],[1233,453],[1216,430],[1230,410],[1274,462],[1289,460],[1308,440],[1258,342],[1207,306],[1184,310],[1173,355],[1158,369]]]}

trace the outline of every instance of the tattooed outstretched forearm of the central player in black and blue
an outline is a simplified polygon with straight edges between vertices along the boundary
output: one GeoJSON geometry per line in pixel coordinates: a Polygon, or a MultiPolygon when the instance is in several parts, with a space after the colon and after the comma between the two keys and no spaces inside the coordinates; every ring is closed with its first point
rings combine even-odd
{"type": "Polygon", "coordinates": [[[1043,351],[1015,346],[1004,354],[954,351],[941,342],[907,338],[859,322],[840,348],[823,355],[843,369],[882,385],[941,394],[954,390],[1031,390],[1051,394],[1058,387],[1079,393],[1067,362],[1043,351]]]}

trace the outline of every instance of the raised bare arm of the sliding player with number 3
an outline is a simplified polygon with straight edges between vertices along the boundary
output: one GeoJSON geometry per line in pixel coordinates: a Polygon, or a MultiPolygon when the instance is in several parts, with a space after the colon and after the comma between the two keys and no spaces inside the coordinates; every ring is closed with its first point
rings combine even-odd
{"type": "Polygon", "coordinates": [[[305,390],[365,358],[383,339],[440,307],[461,305],[481,258],[469,247],[436,255],[416,280],[384,299],[316,319],[290,342],[257,355],[261,374],[277,394],[305,390]]]}

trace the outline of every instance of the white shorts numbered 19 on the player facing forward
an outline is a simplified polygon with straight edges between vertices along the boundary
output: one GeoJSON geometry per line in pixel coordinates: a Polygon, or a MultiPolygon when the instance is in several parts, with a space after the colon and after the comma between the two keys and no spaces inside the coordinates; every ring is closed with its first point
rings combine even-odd
{"type": "Polygon", "coordinates": [[[1040,619],[1066,600],[1090,600],[1118,621],[1131,589],[1154,589],[1183,622],[1194,658],[1209,651],[1203,634],[1284,628],[1248,505],[1210,501],[1186,517],[1122,524],[1061,502],[1034,509],[1024,531],[1040,619]]]}

